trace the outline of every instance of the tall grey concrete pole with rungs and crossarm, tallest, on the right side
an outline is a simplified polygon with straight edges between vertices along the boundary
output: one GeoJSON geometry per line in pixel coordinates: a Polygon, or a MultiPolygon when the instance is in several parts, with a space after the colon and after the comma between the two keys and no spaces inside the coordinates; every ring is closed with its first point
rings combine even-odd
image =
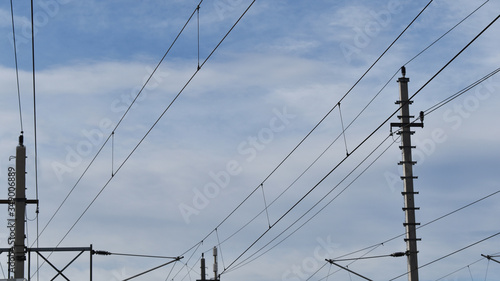
{"type": "MultiPolygon", "coordinates": [[[[405,212],[405,226],[406,230],[406,255],[408,256],[408,280],[409,281],[418,281],[418,260],[417,260],[417,241],[420,239],[417,238],[417,225],[419,223],[415,222],[415,210],[418,210],[418,207],[415,207],[414,195],[418,194],[418,192],[414,191],[413,188],[413,179],[417,178],[413,176],[413,165],[416,164],[412,160],[411,150],[415,148],[411,145],[411,135],[415,132],[411,131],[411,127],[423,127],[423,123],[411,123],[410,118],[414,116],[410,116],[410,104],[412,101],[408,100],[408,82],[409,78],[406,78],[406,69],[403,66],[401,68],[401,72],[403,77],[398,79],[399,83],[399,97],[400,100],[396,102],[401,106],[401,115],[398,118],[401,120],[401,123],[391,123],[392,127],[399,127],[400,130],[397,134],[401,135],[402,145],[400,146],[403,161],[399,162],[400,165],[403,165],[403,176],[401,179],[403,180],[404,190],[402,195],[405,200],[405,206],[403,211],[405,212]]],[[[420,119],[423,121],[423,114],[420,114],[420,119]]]]}

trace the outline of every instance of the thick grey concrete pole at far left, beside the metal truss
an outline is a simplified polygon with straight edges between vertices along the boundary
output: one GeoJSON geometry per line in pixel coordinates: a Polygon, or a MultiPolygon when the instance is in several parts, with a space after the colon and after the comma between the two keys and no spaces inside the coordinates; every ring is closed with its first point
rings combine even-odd
{"type": "Polygon", "coordinates": [[[19,145],[16,147],[16,238],[14,242],[15,271],[14,278],[24,278],[24,216],[26,212],[26,147],[23,136],[19,136],[19,145]]]}

